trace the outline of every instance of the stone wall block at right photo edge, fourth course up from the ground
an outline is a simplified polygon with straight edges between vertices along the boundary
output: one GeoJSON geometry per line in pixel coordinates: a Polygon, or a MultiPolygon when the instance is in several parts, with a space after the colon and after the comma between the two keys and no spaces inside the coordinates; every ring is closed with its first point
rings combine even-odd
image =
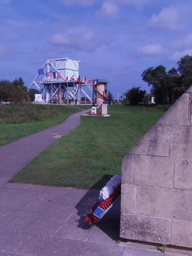
{"type": "Polygon", "coordinates": [[[170,156],[192,158],[192,127],[173,126],[171,130],[170,156]]]}

